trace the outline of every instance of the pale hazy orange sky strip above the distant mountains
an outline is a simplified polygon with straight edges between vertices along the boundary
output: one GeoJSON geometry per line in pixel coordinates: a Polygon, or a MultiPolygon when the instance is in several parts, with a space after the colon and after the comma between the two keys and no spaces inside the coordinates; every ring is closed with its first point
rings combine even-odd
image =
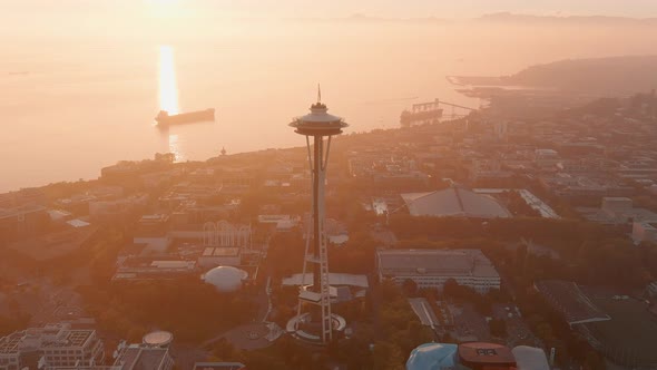
{"type": "MultiPolygon", "coordinates": [[[[177,2],[185,7],[212,7],[227,13],[251,16],[341,17],[363,12],[380,17],[478,17],[511,11],[536,14],[602,14],[657,17],[655,0],[3,0],[3,14],[10,10],[75,12],[136,8],[140,3],[177,2]]],[[[124,9],[125,10],[125,9],[124,9]]],[[[2,14],[0,14],[2,18],[2,14]]]]}

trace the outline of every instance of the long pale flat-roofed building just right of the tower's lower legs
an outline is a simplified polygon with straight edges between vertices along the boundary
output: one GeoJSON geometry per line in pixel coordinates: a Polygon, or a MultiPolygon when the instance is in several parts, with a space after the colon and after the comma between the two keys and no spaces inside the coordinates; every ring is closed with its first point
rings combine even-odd
{"type": "Polygon", "coordinates": [[[480,250],[379,250],[376,269],[380,280],[412,280],[420,289],[442,290],[450,279],[482,294],[500,289],[498,271],[480,250]]]}

